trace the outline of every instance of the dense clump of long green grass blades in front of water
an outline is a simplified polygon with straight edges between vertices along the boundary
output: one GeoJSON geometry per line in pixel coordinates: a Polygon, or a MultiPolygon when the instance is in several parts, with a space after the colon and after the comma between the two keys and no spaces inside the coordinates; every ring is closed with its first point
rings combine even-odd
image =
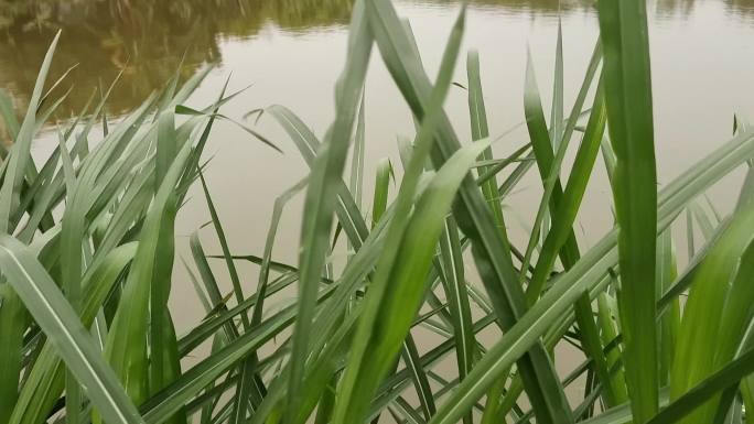
{"type": "Polygon", "coordinates": [[[0,185],[0,422],[746,422],[743,405],[754,410],[754,132],[736,118],[731,140],[656,192],[644,2],[602,0],[601,41],[572,108],[562,100],[559,36],[550,122],[529,66],[529,140],[494,157],[476,53],[467,58],[473,140],[459,139],[443,109],[464,23],[462,8],[432,81],[390,1],[356,1],[324,139],[284,107],[266,109],[311,173],[274,203],[259,254],[233,251],[202,175],[212,127],[227,119],[219,108],[236,95],[224,90],[201,110],[184,106],[206,70],[181,87],[176,75],[115,124],[103,112],[107,93],[93,98],[36,167],[31,143],[60,105],[44,90],[55,39],[22,122],[0,96],[13,140],[0,185]],[[417,133],[401,145],[402,173],[379,164],[367,213],[363,90],[373,54],[417,133]],[[100,119],[104,139],[90,143],[100,119]],[[580,246],[573,225],[600,153],[616,226],[580,246]],[[534,165],[542,196],[530,239],[517,246],[502,202],[534,165]],[[709,216],[698,199],[742,166],[750,171],[735,208],[709,216]],[[186,267],[206,316],[176,335],[168,297],[186,282],[173,281],[174,221],[197,180],[222,252],[207,254],[191,238],[186,267]],[[299,262],[278,262],[283,207],[304,189],[299,262]],[[683,222],[691,235],[697,222],[704,242],[689,246],[680,268],[670,229],[683,222]],[[338,237],[348,259],[335,270],[327,257],[338,237]],[[463,260],[468,250],[473,261],[463,260]],[[227,268],[231,293],[220,291],[213,258],[227,268]],[[259,265],[250,296],[239,260],[259,265]],[[265,308],[294,285],[294,302],[265,308]],[[488,327],[502,333],[494,343],[480,336],[488,327]],[[441,341],[419,346],[421,331],[441,341]],[[212,352],[182,369],[181,359],[208,340],[212,352]],[[583,362],[564,374],[553,362],[567,343],[583,362]],[[449,357],[450,377],[438,369],[449,357]]]}

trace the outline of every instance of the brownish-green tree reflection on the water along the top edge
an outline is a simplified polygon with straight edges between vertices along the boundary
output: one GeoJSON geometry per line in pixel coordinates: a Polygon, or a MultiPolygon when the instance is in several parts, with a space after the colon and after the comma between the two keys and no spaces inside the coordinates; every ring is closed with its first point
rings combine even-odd
{"type": "MultiPolygon", "coordinates": [[[[266,25],[305,34],[347,22],[353,0],[26,0],[0,2],[0,86],[25,107],[35,70],[55,31],[63,30],[52,76],[74,64],[76,85],[62,113],[79,110],[91,90],[123,78],[110,112],[132,109],[177,68],[184,77],[223,62],[219,43],[252,37],[266,25]],[[13,59],[8,59],[12,57],[13,59]],[[183,59],[183,62],[182,62],[183,59]]],[[[699,0],[658,0],[658,17],[685,17],[699,0]]],[[[419,0],[448,6],[457,0],[419,0]]],[[[473,0],[476,8],[521,15],[591,12],[593,0],[473,0]]],[[[736,15],[754,15],[754,0],[724,0],[736,15]]]]}

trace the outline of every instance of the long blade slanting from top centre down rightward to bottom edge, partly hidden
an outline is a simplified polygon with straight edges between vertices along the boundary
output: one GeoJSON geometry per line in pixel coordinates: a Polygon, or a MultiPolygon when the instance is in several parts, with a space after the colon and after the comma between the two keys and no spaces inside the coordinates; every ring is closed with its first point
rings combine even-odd
{"type": "MultiPolygon", "coordinates": [[[[383,59],[414,116],[422,117],[429,105],[431,84],[411,47],[411,37],[389,1],[373,0],[368,6],[383,59]]],[[[460,148],[448,117],[443,115],[441,118],[435,134],[438,142],[432,152],[435,166],[440,166],[460,148]]],[[[486,202],[471,178],[461,186],[454,214],[459,227],[472,240],[474,259],[482,271],[482,281],[495,306],[498,323],[503,328],[510,328],[524,314],[526,301],[517,272],[504,253],[508,240],[499,237],[486,202]]],[[[530,355],[521,358],[519,366],[526,378],[529,398],[538,405],[541,421],[570,422],[570,409],[542,346],[535,346],[530,355]]]]}

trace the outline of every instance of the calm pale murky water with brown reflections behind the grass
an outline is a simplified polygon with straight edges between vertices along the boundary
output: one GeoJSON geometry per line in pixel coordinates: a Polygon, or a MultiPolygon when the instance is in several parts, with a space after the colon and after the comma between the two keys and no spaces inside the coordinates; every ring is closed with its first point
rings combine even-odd
{"type": "MultiPolygon", "coordinates": [[[[428,69],[435,69],[457,12],[454,1],[400,1],[410,19],[428,69]]],[[[233,74],[230,88],[251,88],[225,108],[236,118],[251,109],[282,104],[298,112],[322,134],[333,118],[333,85],[343,59],[349,15],[348,0],[147,0],[19,1],[0,3],[0,86],[7,87],[20,107],[30,96],[34,69],[56,29],[63,36],[54,74],[79,66],[71,80],[75,89],[58,119],[78,110],[91,89],[107,85],[123,70],[108,112],[123,113],[158,89],[181,64],[184,76],[214,66],[191,99],[206,105],[233,74]],[[22,6],[18,6],[22,4],[22,6]]],[[[472,1],[465,45],[480,51],[483,85],[493,134],[503,133],[523,119],[523,81],[527,45],[537,76],[549,101],[558,19],[562,19],[566,57],[566,100],[572,101],[591,54],[596,17],[591,2],[550,0],[472,1]]],[[[732,115],[754,118],[754,1],[658,0],[650,4],[650,41],[660,183],[726,140],[732,115]]],[[[53,75],[54,77],[55,75],[53,75]]],[[[464,83],[465,64],[456,80],[464,83]]],[[[366,198],[374,163],[397,159],[396,137],[410,135],[408,109],[391,85],[379,57],[374,57],[367,87],[366,198]]],[[[468,137],[465,93],[451,93],[446,109],[462,137],[468,137]]],[[[262,118],[259,130],[284,151],[280,155],[250,140],[243,131],[220,124],[208,155],[214,155],[208,183],[231,246],[238,252],[262,250],[272,200],[306,173],[294,146],[279,128],[262,118]]],[[[494,149],[514,150],[526,140],[514,131],[494,149]]],[[[49,143],[35,145],[43,154],[49,143]]],[[[579,235],[589,244],[612,226],[601,164],[589,187],[579,235]]],[[[713,202],[724,205],[735,193],[723,186],[713,202]]],[[[536,175],[507,199],[511,233],[521,238],[536,210],[540,191],[536,175]]],[[[295,263],[300,199],[284,215],[276,259],[295,263]]],[[[368,202],[366,202],[368,210],[368,202]]],[[[179,232],[190,235],[208,220],[202,195],[196,192],[180,215],[179,232]]],[[[208,251],[215,249],[211,230],[203,230],[208,251]]],[[[179,240],[187,257],[187,240],[179,240]]],[[[683,251],[685,249],[679,249],[683,251]]],[[[334,259],[335,261],[338,258],[334,259]]],[[[255,269],[244,268],[249,281],[255,269]]],[[[222,274],[222,267],[217,267],[222,274]]],[[[185,281],[182,267],[179,279],[185,281]]],[[[175,314],[180,328],[195,322],[200,306],[187,282],[179,283],[175,314]]],[[[252,283],[248,292],[252,291],[252,283]]]]}

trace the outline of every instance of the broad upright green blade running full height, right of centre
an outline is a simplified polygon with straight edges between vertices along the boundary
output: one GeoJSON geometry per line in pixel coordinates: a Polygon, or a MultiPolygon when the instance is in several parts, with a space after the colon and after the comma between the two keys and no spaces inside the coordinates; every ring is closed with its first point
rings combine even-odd
{"type": "Polygon", "coordinates": [[[599,9],[607,121],[617,160],[612,185],[620,228],[624,363],[634,422],[642,424],[658,407],[657,171],[646,4],[601,0],[599,9]]]}

